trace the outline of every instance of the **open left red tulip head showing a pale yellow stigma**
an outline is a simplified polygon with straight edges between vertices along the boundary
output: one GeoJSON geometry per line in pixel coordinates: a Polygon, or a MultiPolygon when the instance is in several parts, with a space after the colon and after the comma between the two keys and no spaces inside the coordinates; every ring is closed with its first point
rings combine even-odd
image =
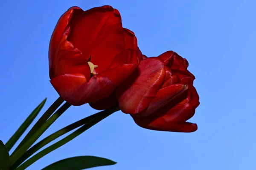
{"type": "Polygon", "coordinates": [[[140,60],[137,38],[122,27],[118,10],[71,7],[58,20],[50,40],[50,82],[72,105],[95,102],[111,96],[140,60]]]}

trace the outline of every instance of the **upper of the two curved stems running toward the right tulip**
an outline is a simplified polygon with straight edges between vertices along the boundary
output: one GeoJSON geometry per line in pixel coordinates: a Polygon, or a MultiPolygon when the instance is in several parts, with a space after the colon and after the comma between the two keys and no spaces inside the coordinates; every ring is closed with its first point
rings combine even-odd
{"type": "Polygon", "coordinates": [[[77,127],[82,126],[83,124],[86,124],[88,121],[92,120],[93,118],[96,118],[96,116],[99,115],[99,113],[90,115],[86,118],[83,118],[79,121],[76,121],[73,124],[70,124],[64,128],[62,128],[61,130],[58,130],[55,133],[52,133],[51,135],[49,135],[47,138],[44,138],[43,140],[41,140],[40,142],[38,142],[37,144],[35,144],[33,147],[31,147],[29,150],[26,151],[26,153],[24,153],[23,156],[21,156],[16,162],[15,164],[12,165],[12,169],[15,169],[16,167],[18,167],[23,161],[25,161],[27,158],[29,158],[30,156],[32,156],[35,152],[37,152],[38,150],[40,150],[42,147],[44,147],[45,145],[49,144],[51,141],[55,140],[56,138],[70,132],[71,130],[76,129],[77,127]]]}

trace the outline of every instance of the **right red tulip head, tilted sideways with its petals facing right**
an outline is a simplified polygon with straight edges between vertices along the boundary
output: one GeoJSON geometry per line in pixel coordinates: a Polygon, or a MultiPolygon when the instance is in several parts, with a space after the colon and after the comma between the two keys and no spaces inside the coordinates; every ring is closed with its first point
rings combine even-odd
{"type": "Polygon", "coordinates": [[[194,132],[197,125],[186,122],[195,114],[199,96],[193,86],[195,76],[189,63],[168,51],[147,58],[116,89],[119,107],[136,124],[151,130],[194,132]]]}

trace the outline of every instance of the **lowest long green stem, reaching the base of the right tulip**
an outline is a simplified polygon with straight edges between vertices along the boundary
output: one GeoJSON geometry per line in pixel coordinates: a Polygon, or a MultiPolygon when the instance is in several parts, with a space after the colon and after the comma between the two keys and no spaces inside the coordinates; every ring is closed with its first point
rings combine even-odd
{"type": "Polygon", "coordinates": [[[84,124],[82,127],[80,127],[75,132],[71,133],[67,137],[61,139],[60,141],[56,142],[55,144],[52,144],[51,146],[47,147],[46,149],[42,150],[41,152],[35,154],[31,158],[29,158],[26,162],[24,162],[19,167],[17,167],[16,170],[25,170],[27,167],[29,167],[31,164],[33,164],[38,159],[42,158],[43,156],[47,155],[48,153],[52,152],[53,150],[57,149],[58,147],[61,147],[62,145],[66,144],[67,142],[71,141],[73,138],[76,138],[78,135],[83,133],[85,130],[87,130],[90,127],[92,127],[93,125],[99,123],[99,121],[102,121],[104,118],[108,117],[113,112],[116,112],[118,110],[119,110],[119,107],[113,107],[111,109],[106,109],[102,112],[99,112],[99,115],[96,118],[93,118],[87,124],[84,124]]]}

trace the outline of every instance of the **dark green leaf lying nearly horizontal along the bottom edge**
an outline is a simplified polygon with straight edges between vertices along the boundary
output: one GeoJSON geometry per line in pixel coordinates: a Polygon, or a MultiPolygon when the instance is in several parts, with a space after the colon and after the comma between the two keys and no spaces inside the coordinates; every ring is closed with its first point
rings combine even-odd
{"type": "Polygon", "coordinates": [[[96,156],[77,156],[57,161],[42,170],[84,170],[90,167],[113,165],[116,162],[96,156]]]}

